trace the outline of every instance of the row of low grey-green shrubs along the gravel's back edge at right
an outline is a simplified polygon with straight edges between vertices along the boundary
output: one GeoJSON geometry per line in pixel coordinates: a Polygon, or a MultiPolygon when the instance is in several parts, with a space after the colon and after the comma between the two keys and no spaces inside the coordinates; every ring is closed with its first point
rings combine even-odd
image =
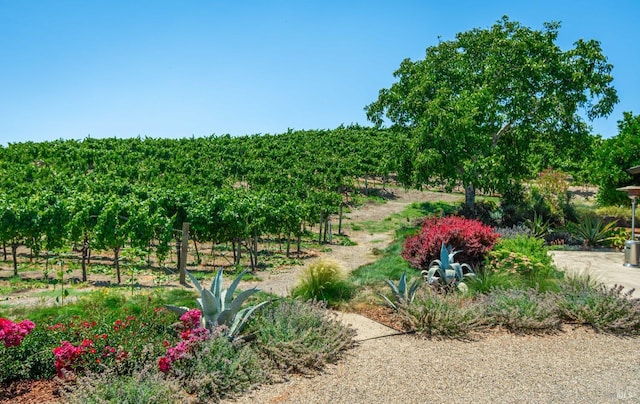
{"type": "Polygon", "coordinates": [[[422,288],[397,312],[407,331],[425,337],[471,338],[488,328],[513,333],[553,333],[563,323],[592,327],[617,335],[640,335],[640,299],[633,291],[594,283],[588,276],[570,277],[555,292],[493,289],[470,298],[440,295],[422,288]]]}

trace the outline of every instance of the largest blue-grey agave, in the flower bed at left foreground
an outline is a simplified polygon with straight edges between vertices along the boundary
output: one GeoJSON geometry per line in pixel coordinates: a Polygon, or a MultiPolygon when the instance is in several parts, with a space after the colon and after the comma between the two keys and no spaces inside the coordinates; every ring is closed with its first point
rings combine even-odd
{"type": "MultiPolygon", "coordinates": [[[[205,289],[200,285],[200,282],[187,271],[191,282],[193,282],[198,292],[200,292],[200,297],[197,299],[197,302],[202,310],[202,325],[204,327],[213,330],[216,326],[224,326],[227,328],[226,335],[233,339],[238,335],[253,312],[267,303],[267,301],[264,301],[240,310],[244,301],[258,291],[256,288],[251,288],[241,292],[235,298],[233,297],[233,293],[246,272],[247,271],[243,271],[238,275],[228,289],[222,289],[222,269],[220,269],[215,278],[213,278],[211,288],[205,289]]],[[[189,311],[188,307],[172,305],[166,305],[166,307],[179,316],[189,311]]]]}

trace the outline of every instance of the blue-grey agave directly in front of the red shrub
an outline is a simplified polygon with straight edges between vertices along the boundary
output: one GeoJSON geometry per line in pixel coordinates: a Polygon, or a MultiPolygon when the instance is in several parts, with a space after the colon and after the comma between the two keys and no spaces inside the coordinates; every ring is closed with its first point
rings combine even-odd
{"type": "Polygon", "coordinates": [[[422,271],[422,276],[427,284],[444,293],[455,289],[462,291],[467,289],[467,285],[464,284],[463,280],[465,277],[475,276],[475,273],[469,264],[455,262],[453,257],[458,252],[453,251],[453,248],[447,247],[442,243],[440,259],[431,261],[429,269],[422,271]]]}

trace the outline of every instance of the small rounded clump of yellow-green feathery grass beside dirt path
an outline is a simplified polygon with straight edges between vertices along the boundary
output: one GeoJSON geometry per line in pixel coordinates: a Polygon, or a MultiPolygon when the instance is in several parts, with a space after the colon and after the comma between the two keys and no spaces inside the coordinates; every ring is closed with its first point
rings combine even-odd
{"type": "Polygon", "coordinates": [[[322,300],[329,306],[351,297],[353,286],[346,280],[337,262],[320,260],[306,267],[291,296],[304,300],[322,300]]]}

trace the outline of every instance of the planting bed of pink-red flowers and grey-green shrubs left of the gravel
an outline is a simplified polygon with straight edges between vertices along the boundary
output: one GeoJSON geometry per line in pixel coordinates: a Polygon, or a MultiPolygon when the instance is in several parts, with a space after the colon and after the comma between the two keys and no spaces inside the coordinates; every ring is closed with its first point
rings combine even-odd
{"type": "Polygon", "coordinates": [[[0,383],[58,373],[68,402],[181,402],[187,395],[209,402],[287,373],[315,372],[354,344],[355,332],[328,317],[323,306],[284,299],[254,314],[245,340],[215,332],[192,339],[163,372],[158,359],[167,347],[181,346],[184,328],[160,308],[161,300],[121,299],[91,294],[76,305],[82,313],[77,317],[34,312],[36,327],[19,346],[0,345],[0,383]],[[110,309],[113,300],[124,308],[110,309]]]}

